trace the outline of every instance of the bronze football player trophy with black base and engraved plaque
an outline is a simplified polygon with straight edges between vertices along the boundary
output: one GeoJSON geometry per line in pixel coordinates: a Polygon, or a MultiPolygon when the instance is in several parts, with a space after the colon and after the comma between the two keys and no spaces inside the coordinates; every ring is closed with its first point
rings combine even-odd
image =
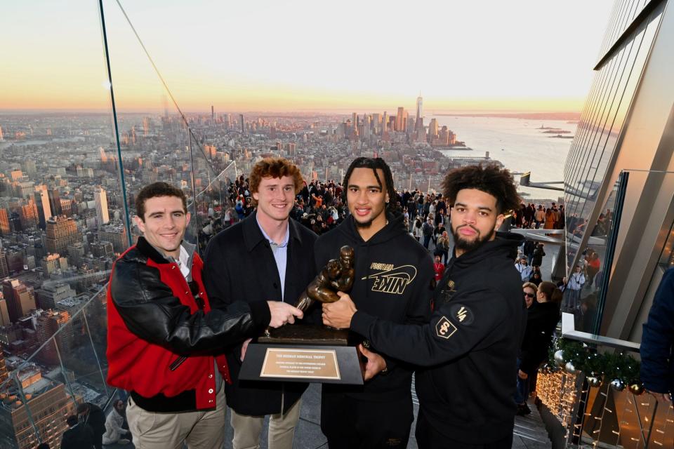
{"type": "MultiPolygon", "coordinates": [[[[300,295],[295,307],[307,312],[317,302],[339,300],[338,291],[353,286],[353,248],[343,246],[300,295]]],[[[249,344],[239,378],[363,384],[361,354],[350,344],[348,329],[327,326],[286,325],[267,328],[249,344]]]]}

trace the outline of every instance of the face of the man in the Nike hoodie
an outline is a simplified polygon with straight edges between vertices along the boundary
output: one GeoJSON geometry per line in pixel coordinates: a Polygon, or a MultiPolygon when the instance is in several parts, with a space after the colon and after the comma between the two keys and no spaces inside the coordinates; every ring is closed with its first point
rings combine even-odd
{"type": "MultiPolygon", "coordinates": [[[[383,170],[377,169],[379,179],[384,179],[383,170]]],[[[379,185],[371,168],[354,168],[349,177],[346,201],[356,226],[378,231],[386,225],[384,208],[388,203],[388,193],[379,185]]]]}

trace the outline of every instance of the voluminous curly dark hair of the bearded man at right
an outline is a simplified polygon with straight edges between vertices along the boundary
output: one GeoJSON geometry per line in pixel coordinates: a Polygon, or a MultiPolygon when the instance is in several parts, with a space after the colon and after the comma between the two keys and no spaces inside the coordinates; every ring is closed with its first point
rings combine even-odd
{"type": "Polygon", "coordinates": [[[520,196],[515,189],[513,175],[495,163],[455,168],[442,181],[442,194],[449,206],[454,206],[456,194],[463,189],[477,189],[496,198],[497,213],[506,213],[520,208],[520,196]]]}

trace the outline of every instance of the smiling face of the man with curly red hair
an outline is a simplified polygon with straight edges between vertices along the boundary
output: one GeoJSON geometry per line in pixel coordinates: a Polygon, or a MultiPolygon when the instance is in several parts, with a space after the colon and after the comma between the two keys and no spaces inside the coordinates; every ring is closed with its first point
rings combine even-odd
{"type": "Polygon", "coordinates": [[[263,177],[258,191],[253,192],[258,202],[260,220],[284,221],[295,204],[295,184],[290,176],[263,177]]]}

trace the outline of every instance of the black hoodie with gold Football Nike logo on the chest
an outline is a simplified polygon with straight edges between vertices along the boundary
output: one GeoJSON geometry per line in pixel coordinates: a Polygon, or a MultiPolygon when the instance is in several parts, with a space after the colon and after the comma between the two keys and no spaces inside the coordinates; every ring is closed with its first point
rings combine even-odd
{"type": "MultiPolygon", "coordinates": [[[[355,251],[355,280],[350,297],[357,309],[393,323],[428,323],[431,309],[433,262],[423,246],[407,234],[402,215],[388,215],[388,224],[364,241],[352,216],[314,245],[317,272],[348,245],[355,251]]],[[[357,399],[390,401],[408,396],[414,368],[386,357],[387,372],[361,387],[343,389],[357,399]]]]}

